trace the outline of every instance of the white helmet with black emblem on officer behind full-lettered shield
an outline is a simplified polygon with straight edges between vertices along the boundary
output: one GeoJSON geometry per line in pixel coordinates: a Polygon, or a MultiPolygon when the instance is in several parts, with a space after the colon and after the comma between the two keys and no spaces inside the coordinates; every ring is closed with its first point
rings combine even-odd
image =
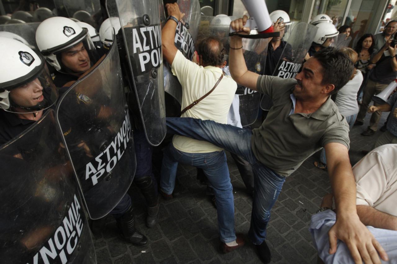
{"type": "Polygon", "coordinates": [[[57,55],[83,40],[87,40],[86,49],[95,49],[86,28],[66,17],[50,17],[40,23],[36,30],[36,43],[46,61],[58,71],[62,68],[57,55]]]}

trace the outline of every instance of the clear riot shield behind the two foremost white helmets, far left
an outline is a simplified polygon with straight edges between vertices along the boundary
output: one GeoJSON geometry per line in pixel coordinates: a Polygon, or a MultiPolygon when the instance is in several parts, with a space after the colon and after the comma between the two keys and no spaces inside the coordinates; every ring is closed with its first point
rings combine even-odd
{"type": "Polygon", "coordinates": [[[0,31],[17,34],[22,39],[15,38],[16,40],[23,42],[32,49],[38,50],[36,45],[36,30],[40,23],[41,22],[0,25],[0,31]]]}

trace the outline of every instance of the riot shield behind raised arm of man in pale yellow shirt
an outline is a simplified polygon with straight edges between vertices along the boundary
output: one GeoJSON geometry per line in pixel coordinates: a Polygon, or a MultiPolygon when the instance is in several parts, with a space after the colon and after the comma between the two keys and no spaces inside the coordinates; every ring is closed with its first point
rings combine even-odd
{"type": "MultiPolygon", "coordinates": [[[[185,13],[182,21],[179,21],[175,30],[175,46],[189,60],[193,59],[195,42],[200,25],[200,3],[198,0],[178,0],[178,6],[185,13]]],[[[164,91],[170,94],[180,104],[182,100],[182,87],[176,76],[171,72],[171,66],[164,63],[164,91]]],[[[173,106],[172,102],[166,102],[167,108],[173,106]]],[[[175,109],[176,110],[176,109],[175,109]]],[[[177,112],[177,111],[175,111],[177,112]]]]}

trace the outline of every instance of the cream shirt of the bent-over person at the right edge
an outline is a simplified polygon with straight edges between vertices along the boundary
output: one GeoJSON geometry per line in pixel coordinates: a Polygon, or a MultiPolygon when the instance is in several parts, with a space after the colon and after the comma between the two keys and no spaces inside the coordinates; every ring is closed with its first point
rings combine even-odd
{"type": "Polygon", "coordinates": [[[397,144],[375,148],[353,167],[357,205],[397,217],[397,144]]]}

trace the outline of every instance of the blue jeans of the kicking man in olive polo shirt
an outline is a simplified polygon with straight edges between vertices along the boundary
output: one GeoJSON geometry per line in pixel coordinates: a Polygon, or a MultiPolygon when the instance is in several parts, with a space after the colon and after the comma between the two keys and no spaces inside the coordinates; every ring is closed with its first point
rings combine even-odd
{"type": "Polygon", "coordinates": [[[247,160],[254,172],[254,201],[249,237],[260,245],[266,238],[270,210],[276,202],[285,177],[260,163],[251,148],[252,131],[194,118],[167,118],[167,132],[211,142],[247,160]]]}

